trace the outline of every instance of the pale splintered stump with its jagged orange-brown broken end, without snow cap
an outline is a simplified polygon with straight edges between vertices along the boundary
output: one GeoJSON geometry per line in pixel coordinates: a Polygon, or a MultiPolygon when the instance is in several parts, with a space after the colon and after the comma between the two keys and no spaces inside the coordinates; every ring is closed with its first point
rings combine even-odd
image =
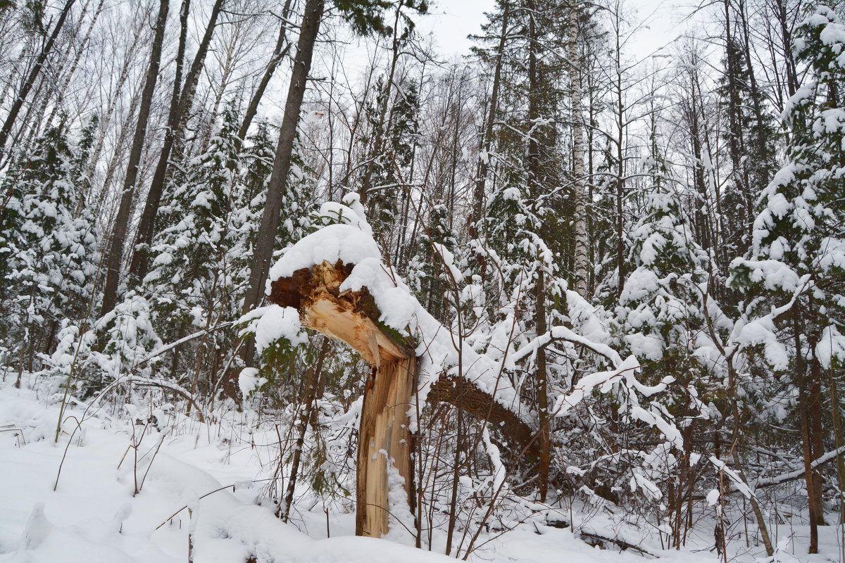
{"type": "MultiPolygon", "coordinates": [[[[324,262],[271,282],[270,301],[292,306],[303,325],[342,340],[372,366],[364,390],[358,433],[356,533],[380,537],[389,531],[390,488],[401,488],[413,506],[412,436],[408,410],[417,381],[413,349],[395,342],[379,328],[373,298],[363,291],[340,291],[351,267],[324,262]],[[390,465],[389,465],[390,464],[390,465]],[[395,472],[389,471],[395,468],[395,472]],[[399,479],[391,479],[390,474],[399,479]],[[391,483],[391,481],[393,481],[391,483]]],[[[394,496],[394,503],[397,496],[394,496]]],[[[406,525],[412,522],[405,522],[406,525]]]]}

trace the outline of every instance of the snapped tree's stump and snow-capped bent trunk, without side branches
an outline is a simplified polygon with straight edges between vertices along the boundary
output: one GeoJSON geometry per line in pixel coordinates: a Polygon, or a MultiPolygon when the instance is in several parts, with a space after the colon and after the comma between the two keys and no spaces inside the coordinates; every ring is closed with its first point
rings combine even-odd
{"type": "Polygon", "coordinates": [[[358,433],[356,533],[401,534],[413,527],[412,431],[423,403],[472,414],[504,436],[514,459],[529,463],[537,457],[537,417],[504,376],[504,364],[456,345],[460,336],[384,265],[361,215],[336,203],[324,203],[321,214],[347,224],[326,225],[286,249],[270,268],[266,295],[372,367],[358,433]]]}

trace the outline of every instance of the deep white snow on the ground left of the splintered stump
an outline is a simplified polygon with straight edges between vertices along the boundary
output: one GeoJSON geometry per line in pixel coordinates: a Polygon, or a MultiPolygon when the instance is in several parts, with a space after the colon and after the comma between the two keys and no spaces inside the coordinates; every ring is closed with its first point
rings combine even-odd
{"type": "Polygon", "coordinates": [[[156,429],[143,424],[146,412],[100,409],[83,420],[82,409],[70,408],[63,436],[54,444],[58,406],[45,406],[35,391],[15,389],[9,380],[0,389],[2,561],[185,561],[192,529],[198,563],[250,557],[440,559],[403,545],[355,538],[350,514],[330,513],[330,532],[337,537],[324,539],[325,515],[319,507],[313,514],[295,511],[292,522],[283,523],[271,507],[257,506],[273,466],[268,455],[275,450],[262,447],[270,429],[248,433],[255,423],[249,414],[199,424],[159,409],[156,429]],[[79,428],[77,420],[82,420],[79,428]],[[138,421],[142,424],[133,424],[138,421]],[[136,463],[131,445],[141,432],[136,463]],[[143,486],[133,495],[136,477],[143,486]]]}

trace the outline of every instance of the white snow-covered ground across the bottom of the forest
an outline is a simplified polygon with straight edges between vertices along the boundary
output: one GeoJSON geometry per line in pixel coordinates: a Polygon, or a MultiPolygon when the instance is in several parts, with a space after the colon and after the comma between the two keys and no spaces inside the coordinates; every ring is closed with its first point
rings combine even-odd
{"type": "MultiPolygon", "coordinates": [[[[319,503],[306,512],[299,504],[291,522],[281,522],[272,508],[255,503],[260,490],[260,481],[255,481],[267,476],[272,461],[269,449],[260,447],[264,436],[237,436],[237,425],[174,416],[182,422],[165,434],[153,425],[143,430],[144,425],[133,424],[140,420],[131,406],[123,412],[113,405],[85,411],[86,405],[74,404],[65,410],[56,444],[56,397],[40,396],[27,380],[21,389],[13,383],[11,375],[0,382],[0,561],[184,562],[189,560],[189,536],[195,563],[448,560],[384,539],[354,537],[354,516],[336,510],[338,503],[327,513],[319,503]],[[134,443],[140,443],[137,462],[134,443]],[[136,486],[139,493],[134,495],[136,486]]],[[[232,412],[233,420],[239,416],[243,414],[232,412]]],[[[597,522],[594,533],[613,536],[597,522]]],[[[526,522],[508,533],[491,533],[490,541],[482,537],[470,560],[722,560],[711,550],[712,524],[700,528],[681,551],[661,549],[646,534],[638,545],[650,556],[633,549],[599,549],[577,539],[572,528],[526,522]]],[[[802,555],[805,527],[775,532],[780,546],[775,560],[841,560],[835,527],[821,528],[822,553],[813,556],[802,555]]],[[[731,561],[765,555],[744,541],[733,542],[729,551],[731,561]]]]}

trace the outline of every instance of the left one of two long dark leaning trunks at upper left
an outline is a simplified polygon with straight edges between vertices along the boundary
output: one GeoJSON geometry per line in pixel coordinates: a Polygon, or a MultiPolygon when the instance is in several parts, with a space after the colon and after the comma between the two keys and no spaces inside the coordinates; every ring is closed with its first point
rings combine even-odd
{"type": "Polygon", "coordinates": [[[132,214],[132,200],[135,194],[135,181],[138,179],[138,166],[141,154],[144,152],[144,138],[147,133],[147,122],[150,121],[150,106],[152,106],[155,83],[158,80],[161,66],[161,45],[164,42],[164,30],[167,24],[167,11],[170,0],[160,0],[158,18],[155,20],[155,36],[150,49],[150,66],[144,78],[144,92],[141,95],[141,105],[138,112],[138,122],[132,139],[132,149],[129,150],[129,160],[126,166],[126,177],[123,179],[120,206],[112,229],[112,241],[103,262],[106,264],[106,286],[103,290],[103,301],[100,314],[112,311],[117,302],[117,285],[120,283],[120,263],[123,259],[123,245],[132,214]]]}

